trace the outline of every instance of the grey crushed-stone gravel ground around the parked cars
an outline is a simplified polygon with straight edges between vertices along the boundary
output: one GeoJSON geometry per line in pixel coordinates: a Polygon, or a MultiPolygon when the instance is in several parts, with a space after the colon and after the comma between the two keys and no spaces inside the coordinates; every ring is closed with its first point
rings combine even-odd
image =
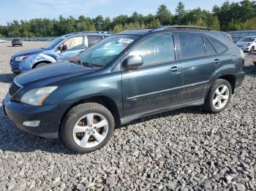
{"type": "MultiPolygon", "coordinates": [[[[0,44],[0,99],[12,81],[12,53],[0,44]]],[[[73,155],[60,141],[23,133],[0,109],[0,190],[256,190],[256,68],[221,114],[179,109],[124,125],[110,143],[73,155]]]]}

